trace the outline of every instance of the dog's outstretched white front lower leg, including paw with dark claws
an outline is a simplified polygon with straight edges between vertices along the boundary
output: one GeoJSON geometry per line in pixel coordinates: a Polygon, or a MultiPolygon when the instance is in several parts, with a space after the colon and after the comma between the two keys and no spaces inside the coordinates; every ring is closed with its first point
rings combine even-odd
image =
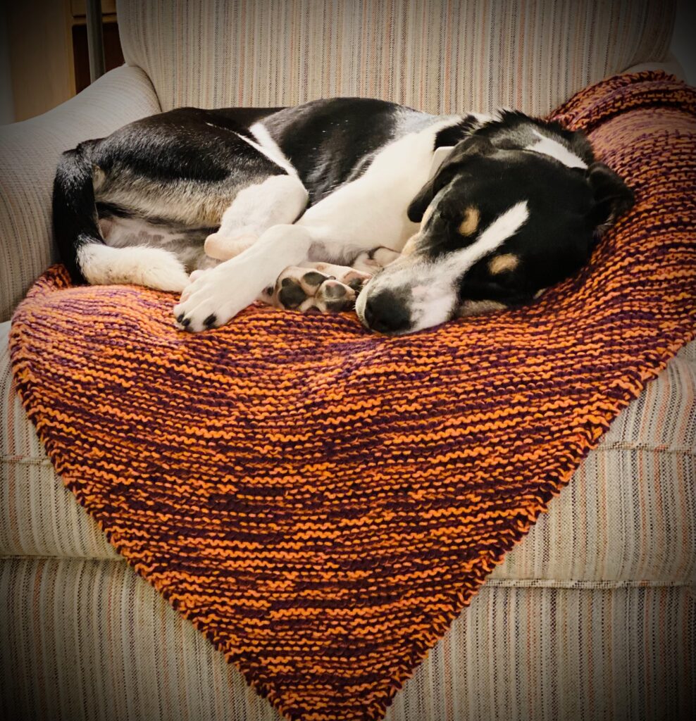
{"type": "Polygon", "coordinates": [[[252,304],[288,265],[307,260],[312,233],[299,225],[269,228],[237,257],[190,283],[174,307],[178,327],[189,331],[222,325],[252,304]]]}

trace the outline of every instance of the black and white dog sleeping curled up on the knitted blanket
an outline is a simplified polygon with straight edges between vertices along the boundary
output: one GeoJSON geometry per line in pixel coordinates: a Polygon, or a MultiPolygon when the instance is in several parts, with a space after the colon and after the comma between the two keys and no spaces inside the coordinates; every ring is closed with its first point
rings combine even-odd
{"type": "Polygon", "coordinates": [[[530,301],[632,204],[556,123],[336,98],[181,108],[81,143],[58,167],[53,221],[75,280],[180,292],[182,329],[263,299],[355,301],[366,327],[405,333],[530,301]]]}

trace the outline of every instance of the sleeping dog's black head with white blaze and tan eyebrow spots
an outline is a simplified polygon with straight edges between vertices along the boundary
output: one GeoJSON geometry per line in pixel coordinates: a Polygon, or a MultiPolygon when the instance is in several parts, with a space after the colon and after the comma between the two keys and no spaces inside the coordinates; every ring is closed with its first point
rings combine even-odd
{"type": "Polygon", "coordinates": [[[583,133],[501,112],[445,151],[408,208],[420,230],[364,287],[358,317],[400,334],[527,303],[576,273],[631,205],[583,133]]]}

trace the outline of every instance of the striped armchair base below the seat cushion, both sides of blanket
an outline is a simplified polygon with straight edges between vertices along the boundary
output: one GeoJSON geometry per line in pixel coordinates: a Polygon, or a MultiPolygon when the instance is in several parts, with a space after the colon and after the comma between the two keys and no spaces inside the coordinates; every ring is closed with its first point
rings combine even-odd
{"type": "MultiPolygon", "coordinates": [[[[4,559],[0,601],[2,718],[281,721],[123,563],[4,559]]],[[[683,585],[490,580],[386,721],[684,721],[695,620],[683,585]]]]}

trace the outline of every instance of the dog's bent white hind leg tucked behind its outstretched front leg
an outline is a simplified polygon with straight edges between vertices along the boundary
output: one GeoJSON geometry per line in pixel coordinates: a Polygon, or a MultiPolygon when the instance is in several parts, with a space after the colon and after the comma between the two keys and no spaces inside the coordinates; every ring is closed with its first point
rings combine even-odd
{"type": "Polygon", "coordinates": [[[294,223],[308,198],[294,175],[271,175],[243,188],[224,212],[219,229],[206,238],[206,255],[216,260],[239,255],[269,228],[294,223]]]}

